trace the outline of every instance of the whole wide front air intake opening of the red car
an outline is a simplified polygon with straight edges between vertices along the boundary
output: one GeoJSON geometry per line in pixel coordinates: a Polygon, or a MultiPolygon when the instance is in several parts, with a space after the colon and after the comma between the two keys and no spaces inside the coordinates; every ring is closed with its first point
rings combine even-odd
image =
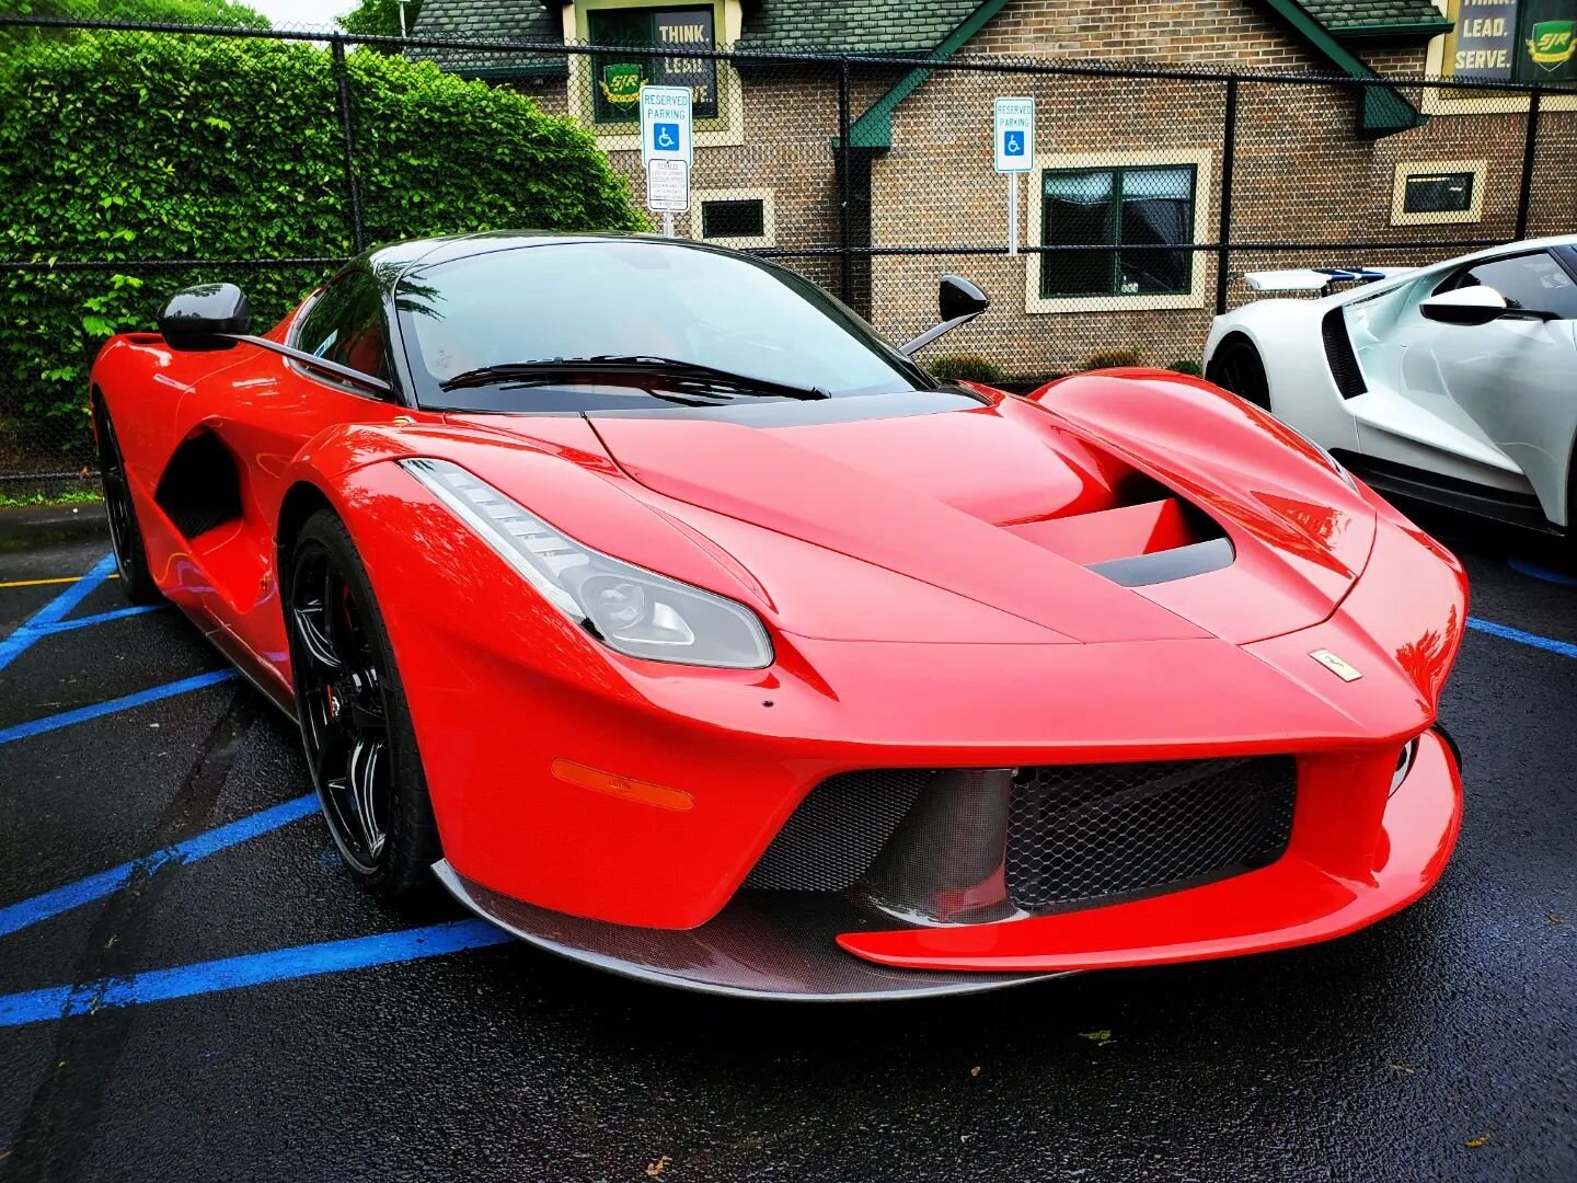
{"type": "Polygon", "coordinates": [[[1296,789],[1290,756],[842,773],[806,795],[744,886],[897,891],[904,912],[953,920],[992,901],[1091,907],[1274,863],[1296,789]]]}

